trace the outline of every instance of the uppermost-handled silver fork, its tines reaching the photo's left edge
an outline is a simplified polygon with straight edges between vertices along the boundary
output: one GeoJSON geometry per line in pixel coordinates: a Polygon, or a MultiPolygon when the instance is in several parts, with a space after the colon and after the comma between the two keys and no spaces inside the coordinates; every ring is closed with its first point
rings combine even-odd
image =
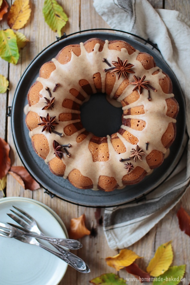
{"type": "MultiPolygon", "coordinates": [[[[28,231],[27,229],[24,229],[22,227],[19,227],[17,225],[13,224],[4,224],[0,222],[0,227],[4,228],[7,232],[7,236],[9,238],[15,238],[16,236],[26,235],[33,238],[39,238],[42,240],[49,241],[51,243],[57,244],[59,246],[64,246],[69,249],[79,249],[83,245],[78,240],[71,240],[66,238],[51,238],[46,237],[42,235],[34,235],[32,232],[28,231]],[[23,231],[24,230],[24,231],[23,231]]],[[[0,232],[5,232],[0,228],[0,232]]]]}

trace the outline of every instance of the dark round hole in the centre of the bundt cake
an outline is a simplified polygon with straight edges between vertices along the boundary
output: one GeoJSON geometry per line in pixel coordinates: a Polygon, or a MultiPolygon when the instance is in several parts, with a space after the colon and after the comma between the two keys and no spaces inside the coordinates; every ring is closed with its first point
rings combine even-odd
{"type": "Polygon", "coordinates": [[[118,132],[122,124],[122,108],[112,106],[103,93],[92,94],[88,102],[80,107],[80,111],[84,128],[97,137],[118,132]]]}

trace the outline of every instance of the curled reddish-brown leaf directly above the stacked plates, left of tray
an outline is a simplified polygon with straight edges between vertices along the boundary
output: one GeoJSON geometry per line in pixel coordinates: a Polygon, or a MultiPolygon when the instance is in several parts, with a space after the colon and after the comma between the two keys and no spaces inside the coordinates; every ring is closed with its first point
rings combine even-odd
{"type": "Polygon", "coordinates": [[[9,174],[11,174],[24,189],[33,191],[40,188],[39,184],[31,177],[29,172],[23,166],[12,166],[9,174]]]}

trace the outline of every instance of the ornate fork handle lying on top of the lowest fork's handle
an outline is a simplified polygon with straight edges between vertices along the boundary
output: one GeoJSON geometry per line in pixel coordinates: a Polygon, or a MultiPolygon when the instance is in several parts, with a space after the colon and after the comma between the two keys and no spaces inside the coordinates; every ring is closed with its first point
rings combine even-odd
{"type": "Polygon", "coordinates": [[[78,270],[80,272],[86,269],[86,264],[80,257],[77,257],[75,254],[73,254],[69,251],[66,251],[63,248],[58,248],[58,250],[61,252],[61,254],[60,254],[60,253],[58,253],[54,250],[51,250],[50,248],[42,245],[41,243],[39,243],[39,246],[41,248],[44,248],[47,251],[53,253],[57,257],[61,258],[62,260],[67,262],[70,266],[72,266],[73,268],[75,268],[76,270],[78,270]],[[62,249],[62,251],[61,251],[61,249],[62,249]]]}

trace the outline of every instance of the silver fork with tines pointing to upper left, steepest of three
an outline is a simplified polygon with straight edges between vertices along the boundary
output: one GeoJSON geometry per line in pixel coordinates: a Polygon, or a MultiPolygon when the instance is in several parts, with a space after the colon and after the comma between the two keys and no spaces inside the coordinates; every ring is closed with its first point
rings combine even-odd
{"type": "MultiPolygon", "coordinates": [[[[12,215],[12,214],[7,214],[11,219],[16,221],[18,224],[20,224],[20,226],[29,230],[30,232],[36,232],[38,235],[44,236],[44,233],[40,231],[40,229],[38,228],[37,222],[34,220],[34,218],[32,218],[28,213],[24,212],[23,210],[15,207],[15,206],[12,206],[12,207],[15,208],[16,210],[18,210],[23,215],[20,215],[19,213],[11,210],[11,212],[13,212],[15,215],[19,216],[22,220],[16,216],[12,215]]],[[[90,268],[88,267],[87,264],[85,264],[85,262],[80,257],[77,257],[75,254],[67,251],[66,249],[62,248],[59,245],[55,245],[53,243],[51,243],[51,244],[55,248],[57,248],[58,251],[61,252],[61,254],[63,256],[62,259],[65,262],[67,262],[71,267],[75,268],[76,270],[78,270],[81,273],[89,273],[90,272],[90,268]]]]}

